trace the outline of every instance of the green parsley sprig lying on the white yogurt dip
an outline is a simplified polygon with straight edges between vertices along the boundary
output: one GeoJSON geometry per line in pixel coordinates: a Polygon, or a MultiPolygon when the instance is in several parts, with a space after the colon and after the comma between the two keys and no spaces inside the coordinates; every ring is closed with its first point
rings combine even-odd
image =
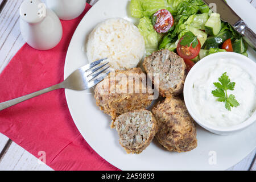
{"type": "Polygon", "coordinates": [[[219,102],[225,102],[225,107],[229,111],[231,111],[231,107],[237,107],[240,104],[237,102],[236,97],[233,94],[228,96],[227,90],[234,90],[235,82],[230,82],[228,75],[226,72],[222,74],[220,78],[218,78],[220,82],[214,82],[214,86],[216,86],[216,90],[212,90],[212,94],[217,98],[219,102]]]}

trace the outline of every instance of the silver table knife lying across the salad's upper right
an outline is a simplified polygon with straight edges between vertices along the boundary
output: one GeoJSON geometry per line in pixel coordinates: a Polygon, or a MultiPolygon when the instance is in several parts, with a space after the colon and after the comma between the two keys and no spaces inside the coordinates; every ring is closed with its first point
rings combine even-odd
{"type": "Polygon", "coordinates": [[[231,24],[243,39],[256,51],[256,34],[243,22],[243,20],[223,0],[203,0],[210,8],[216,5],[216,13],[220,14],[222,21],[231,24]],[[214,4],[212,4],[214,3],[214,4]]]}

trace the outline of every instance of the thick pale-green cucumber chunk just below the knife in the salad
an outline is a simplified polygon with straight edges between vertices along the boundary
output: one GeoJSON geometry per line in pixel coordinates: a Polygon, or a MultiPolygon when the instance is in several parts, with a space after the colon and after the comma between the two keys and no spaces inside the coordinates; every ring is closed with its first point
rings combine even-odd
{"type": "Polygon", "coordinates": [[[210,18],[205,23],[205,32],[209,35],[216,36],[221,30],[220,14],[212,13],[210,18]]]}

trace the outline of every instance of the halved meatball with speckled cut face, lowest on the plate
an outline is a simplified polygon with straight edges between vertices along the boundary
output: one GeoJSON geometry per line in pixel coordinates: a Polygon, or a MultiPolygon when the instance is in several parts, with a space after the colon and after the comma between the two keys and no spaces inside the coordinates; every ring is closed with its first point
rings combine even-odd
{"type": "Polygon", "coordinates": [[[144,109],[119,115],[112,126],[118,131],[119,143],[128,154],[141,153],[158,131],[153,114],[144,109]]]}

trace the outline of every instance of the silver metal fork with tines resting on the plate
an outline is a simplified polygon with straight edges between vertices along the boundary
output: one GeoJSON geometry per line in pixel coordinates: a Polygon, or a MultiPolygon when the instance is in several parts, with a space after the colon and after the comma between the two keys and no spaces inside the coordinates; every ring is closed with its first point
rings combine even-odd
{"type": "Polygon", "coordinates": [[[15,104],[19,104],[20,102],[26,101],[30,98],[50,92],[52,90],[61,88],[72,90],[86,90],[92,88],[93,86],[97,85],[100,81],[102,81],[110,73],[110,71],[104,73],[109,68],[109,66],[105,67],[106,65],[108,65],[109,62],[99,65],[102,61],[106,59],[107,58],[95,61],[93,63],[85,65],[84,67],[77,69],[75,72],[69,75],[69,77],[67,77],[66,80],[57,85],[53,85],[49,88],[39,90],[38,92],[34,92],[26,96],[18,97],[10,101],[2,102],[0,103],[0,111],[15,104]]]}

